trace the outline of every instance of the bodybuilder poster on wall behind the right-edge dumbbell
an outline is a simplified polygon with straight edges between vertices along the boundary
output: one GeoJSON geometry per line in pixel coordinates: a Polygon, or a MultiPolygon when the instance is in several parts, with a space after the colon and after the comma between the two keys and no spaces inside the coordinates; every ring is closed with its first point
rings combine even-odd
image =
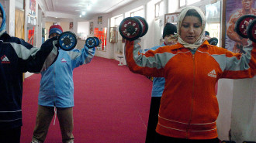
{"type": "Polygon", "coordinates": [[[243,46],[248,44],[247,39],[234,31],[235,23],[242,15],[255,15],[255,3],[255,0],[227,0],[225,47],[234,53],[244,53],[243,46]]]}

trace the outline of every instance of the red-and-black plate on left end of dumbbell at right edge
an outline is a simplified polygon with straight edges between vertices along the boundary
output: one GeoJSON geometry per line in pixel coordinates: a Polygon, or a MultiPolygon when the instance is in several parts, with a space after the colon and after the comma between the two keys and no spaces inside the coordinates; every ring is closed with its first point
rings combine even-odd
{"type": "Polygon", "coordinates": [[[236,24],[235,24],[235,31],[237,32],[237,34],[243,38],[248,38],[247,36],[247,27],[245,26],[246,22],[251,22],[252,20],[254,20],[256,18],[255,15],[243,15],[241,16],[236,24]]]}

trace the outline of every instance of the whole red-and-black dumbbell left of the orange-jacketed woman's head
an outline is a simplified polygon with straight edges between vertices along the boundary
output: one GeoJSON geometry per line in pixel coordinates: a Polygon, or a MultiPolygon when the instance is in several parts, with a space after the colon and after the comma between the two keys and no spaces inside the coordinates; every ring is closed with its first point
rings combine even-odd
{"type": "Polygon", "coordinates": [[[140,16],[127,17],[119,25],[120,35],[130,41],[144,36],[147,30],[147,21],[140,16]]]}

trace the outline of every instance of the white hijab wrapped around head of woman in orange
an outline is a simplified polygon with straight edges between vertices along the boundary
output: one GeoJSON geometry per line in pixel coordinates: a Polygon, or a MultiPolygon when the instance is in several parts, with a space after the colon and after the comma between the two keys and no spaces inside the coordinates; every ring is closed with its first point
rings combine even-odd
{"type": "Polygon", "coordinates": [[[206,29],[206,17],[201,9],[195,6],[188,6],[188,7],[185,7],[185,9],[182,9],[182,12],[178,15],[178,27],[177,27],[178,43],[181,43],[183,46],[185,46],[185,48],[197,49],[204,42],[205,29],[206,29]],[[183,19],[185,18],[186,13],[190,9],[195,9],[195,11],[199,13],[202,19],[202,32],[199,36],[199,39],[197,39],[193,44],[186,43],[180,36],[183,19]]]}

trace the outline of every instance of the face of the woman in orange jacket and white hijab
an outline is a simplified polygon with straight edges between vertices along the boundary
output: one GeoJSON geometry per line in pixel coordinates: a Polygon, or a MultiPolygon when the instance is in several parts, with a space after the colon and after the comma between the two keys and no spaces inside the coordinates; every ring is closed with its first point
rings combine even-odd
{"type": "Polygon", "coordinates": [[[185,16],[180,31],[181,38],[186,43],[193,44],[201,35],[202,22],[200,22],[198,17],[185,16]]]}

